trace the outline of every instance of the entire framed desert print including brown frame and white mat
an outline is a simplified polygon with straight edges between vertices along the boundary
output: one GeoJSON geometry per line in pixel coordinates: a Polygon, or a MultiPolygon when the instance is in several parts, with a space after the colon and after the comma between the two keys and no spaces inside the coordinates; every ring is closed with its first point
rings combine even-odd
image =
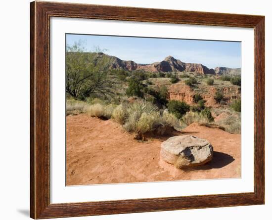
{"type": "Polygon", "coordinates": [[[265,203],[265,17],[33,1],[31,218],[265,203]]]}

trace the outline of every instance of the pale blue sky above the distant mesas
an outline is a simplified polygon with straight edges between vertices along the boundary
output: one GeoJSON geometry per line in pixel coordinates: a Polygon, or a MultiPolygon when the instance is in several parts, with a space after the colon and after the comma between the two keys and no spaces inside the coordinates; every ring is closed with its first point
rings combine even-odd
{"type": "Polygon", "coordinates": [[[66,35],[66,44],[73,45],[79,40],[83,42],[86,51],[94,51],[99,46],[106,49],[106,54],[136,63],[154,63],[171,55],[182,62],[202,63],[209,68],[241,67],[240,42],[66,35]]]}

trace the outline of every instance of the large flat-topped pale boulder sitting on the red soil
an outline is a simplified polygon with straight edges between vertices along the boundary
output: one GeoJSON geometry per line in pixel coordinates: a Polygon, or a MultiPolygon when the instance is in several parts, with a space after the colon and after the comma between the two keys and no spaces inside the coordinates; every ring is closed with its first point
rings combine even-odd
{"type": "Polygon", "coordinates": [[[177,168],[199,166],[212,157],[211,143],[193,135],[170,137],[161,144],[161,158],[177,168]]]}

